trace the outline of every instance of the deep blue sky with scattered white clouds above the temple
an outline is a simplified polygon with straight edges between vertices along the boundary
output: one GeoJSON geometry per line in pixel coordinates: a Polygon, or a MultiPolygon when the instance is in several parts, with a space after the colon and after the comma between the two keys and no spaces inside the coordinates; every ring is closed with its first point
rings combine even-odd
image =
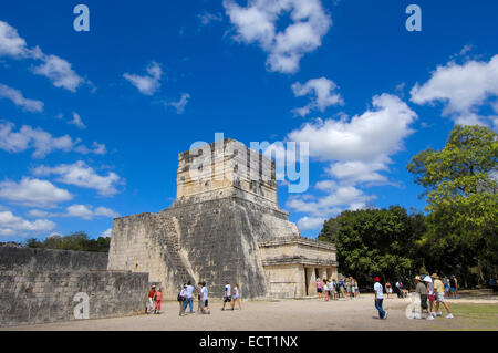
{"type": "MultiPolygon", "coordinates": [[[[423,210],[406,164],[454,124],[497,128],[496,1],[3,1],[0,241],[108,231],[176,197],[215,133],[310,143],[302,235],[344,209],[423,210]],[[90,32],[73,8],[90,9],[90,32]],[[422,9],[408,32],[405,9],[422,9]]],[[[108,232],[107,232],[108,233],[108,232]]]]}

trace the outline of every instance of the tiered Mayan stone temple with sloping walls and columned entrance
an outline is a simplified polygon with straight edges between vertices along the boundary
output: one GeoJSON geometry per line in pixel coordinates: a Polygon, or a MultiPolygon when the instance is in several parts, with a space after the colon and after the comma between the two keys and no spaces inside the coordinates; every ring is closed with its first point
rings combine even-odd
{"type": "Polygon", "coordinates": [[[318,277],[338,276],[335,247],[301,238],[288,216],[274,162],[220,139],[179,154],[169,208],[114,220],[107,269],[146,272],[169,299],[188,280],[215,297],[226,281],[246,299],[314,295],[318,277]]]}

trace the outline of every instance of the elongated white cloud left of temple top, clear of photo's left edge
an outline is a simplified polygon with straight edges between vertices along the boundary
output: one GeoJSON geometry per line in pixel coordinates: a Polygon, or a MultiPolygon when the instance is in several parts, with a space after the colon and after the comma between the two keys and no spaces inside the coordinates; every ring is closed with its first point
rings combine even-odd
{"type": "Polygon", "coordinates": [[[87,166],[83,160],[74,164],[61,164],[56,167],[40,166],[33,169],[38,176],[58,175],[58,181],[74,185],[82,188],[95,189],[102,196],[117,194],[116,185],[123,184],[123,179],[114,172],[101,176],[87,166]]]}

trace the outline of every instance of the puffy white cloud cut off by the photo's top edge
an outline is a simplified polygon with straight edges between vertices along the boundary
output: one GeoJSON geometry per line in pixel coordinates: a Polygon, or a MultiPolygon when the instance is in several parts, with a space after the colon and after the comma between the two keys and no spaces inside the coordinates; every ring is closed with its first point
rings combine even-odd
{"type": "Polygon", "coordinates": [[[268,53],[268,69],[282,73],[297,72],[301,58],[322,44],[332,25],[320,0],[251,0],[247,7],[224,0],[224,7],[237,31],[235,39],[258,43],[268,53]],[[279,31],[277,21],[289,12],[292,23],[279,31]]]}

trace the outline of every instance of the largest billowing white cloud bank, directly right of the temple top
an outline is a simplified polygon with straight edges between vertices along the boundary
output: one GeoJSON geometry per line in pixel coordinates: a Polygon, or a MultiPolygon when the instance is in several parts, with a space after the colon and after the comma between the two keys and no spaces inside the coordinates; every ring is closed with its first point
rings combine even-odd
{"type": "Polygon", "coordinates": [[[397,96],[385,93],[374,96],[372,105],[352,118],[317,120],[288,134],[288,141],[309,142],[310,157],[329,163],[325,172],[331,179],[314,186],[325,195],[299,195],[289,198],[286,207],[310,218],[329,218],[345,209],[365,208],[376,198],[357,184],[388,184],[381,172],[388,172],[391,155],[403,148],[417,115],[397,96]]]}

